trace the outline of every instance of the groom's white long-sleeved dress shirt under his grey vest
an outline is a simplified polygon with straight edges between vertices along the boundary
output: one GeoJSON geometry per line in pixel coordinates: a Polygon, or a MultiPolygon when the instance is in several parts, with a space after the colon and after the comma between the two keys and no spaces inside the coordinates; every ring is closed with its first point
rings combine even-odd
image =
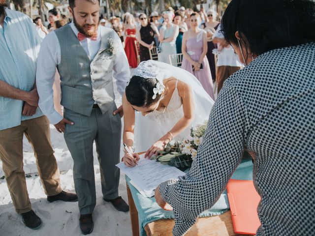
{"type": "MultiPolygon", "coordinates": [[[[78,35],[79,31],[71,22],[71,29],[78,35]]],[[[85,38],[80,41],[82,47],[87,52],[91,61],[100,49],[101,37],[100,27],[97,29],[97,39],[91,40],[85,38]]],[[[114,34],[114,40],[121,42],[117,33],[114,34]]],[[[126,83],[130,79],[130,70],[128,59],[123,48],[123,44],[120,43],[119,53],[114,61],[113,76],[116,78],[117,90],[120,94],[123,94],[126,89],[126,83]]],[[[62,120],[62,116],[54,108],[53,99],[53,84],[55,80],[56,66],[61,62],[61,50],[58,37],[54,31],[47,34],[44,38],[38,59],[36,69],[36,86],[39,95],[38,105],[42,112],[48,117],[52,124],[57,124],[62,120]]]]}

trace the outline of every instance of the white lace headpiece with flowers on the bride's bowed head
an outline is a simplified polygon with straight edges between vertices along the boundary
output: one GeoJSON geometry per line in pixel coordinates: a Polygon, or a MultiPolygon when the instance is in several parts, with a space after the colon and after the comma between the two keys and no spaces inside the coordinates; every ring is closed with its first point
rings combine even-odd
{"type": "MultiPolygon", "coordinates": [[[[162,94],[165,90],[165,86],[163,85],[163,75],[164,73],[158,69],[158,66],[156,66],[152,60],[142,61],[133,71],[133,76],[158,80],[156,88],[153,89],[154,95],[152,96],[152,99],[156,99],[157,95],[162,94]]],[[[127,86],[129,85],[129,82],[127,83],[127,86]]]]}

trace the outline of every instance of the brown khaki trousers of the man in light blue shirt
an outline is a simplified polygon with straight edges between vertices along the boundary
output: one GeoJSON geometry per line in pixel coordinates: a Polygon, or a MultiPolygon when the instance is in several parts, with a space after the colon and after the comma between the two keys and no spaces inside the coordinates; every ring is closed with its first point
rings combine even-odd
{"type": "Polygon", "coordinates": [[[38,174],[47,196],[59,194],[59,169],[50,143],[49,121],[45,116],[24,120],[13,128],[0,130],[0,159],[17,213],[30,211],[31,202],[23,170],[23,134],[32,145],[38,174]]]}

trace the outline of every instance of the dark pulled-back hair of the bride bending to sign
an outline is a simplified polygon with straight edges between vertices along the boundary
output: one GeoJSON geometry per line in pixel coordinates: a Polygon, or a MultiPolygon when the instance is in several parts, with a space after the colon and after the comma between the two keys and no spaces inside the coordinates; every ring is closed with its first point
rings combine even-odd
{"type": "Polygon", "coordinates": [[[132,76],[129,85],[126,87],[127,101],[137,107],[149,107],[156,102],[162,94],[157,94],[153,99],[153,89],[157,87],[157,79],[145,79],[140,76],[132,76]]]}

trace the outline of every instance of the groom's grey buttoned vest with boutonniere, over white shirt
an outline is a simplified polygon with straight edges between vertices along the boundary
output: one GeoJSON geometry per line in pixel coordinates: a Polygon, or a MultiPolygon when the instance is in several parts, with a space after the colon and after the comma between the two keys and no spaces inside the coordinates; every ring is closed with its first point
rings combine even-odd
{"type": "Polygon", "coordinates": [[[108,57],[110,55],[105,52],[108,38],[114,38],[114,32],[100,27],[101,46],[91,61],[69,24],[55,31],[61,49],[57,69],[63,107],[90,116],[95,101],[102,114],[114,104],[112,72],[116,56],[108,57]]]}

